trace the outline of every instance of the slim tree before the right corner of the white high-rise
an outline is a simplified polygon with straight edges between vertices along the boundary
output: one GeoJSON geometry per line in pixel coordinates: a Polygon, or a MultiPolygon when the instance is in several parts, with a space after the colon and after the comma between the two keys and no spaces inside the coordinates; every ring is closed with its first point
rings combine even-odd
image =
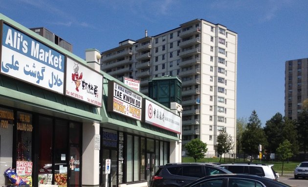
{"type": "Polygon", "coordinates": [[[231,135],[225,129],[220,131],[220,134],[217,136],[217,152],[221,155],[219,162],[221,161],[222,154],[230,152],[233,147],[234,143],[231,135]]]}

